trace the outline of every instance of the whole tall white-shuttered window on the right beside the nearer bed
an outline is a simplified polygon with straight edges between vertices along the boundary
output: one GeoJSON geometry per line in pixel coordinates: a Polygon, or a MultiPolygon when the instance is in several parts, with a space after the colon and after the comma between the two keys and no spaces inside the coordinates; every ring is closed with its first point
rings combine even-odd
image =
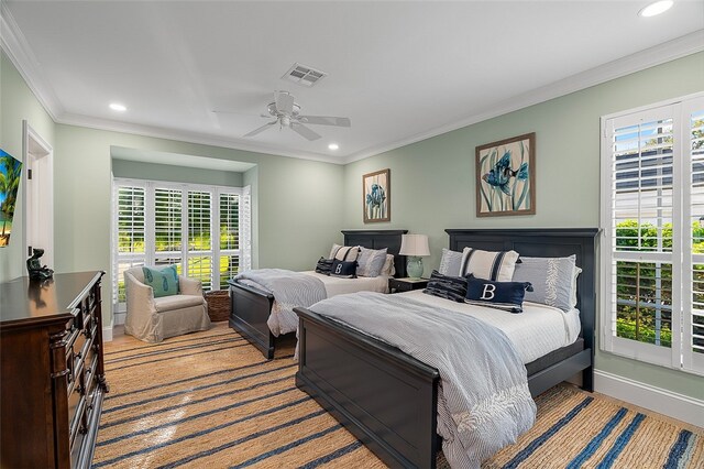
{"type": "Polygon", "coordinates": [[[704,97],[603,123],[602,347],[704,373],[704,97]]]}

